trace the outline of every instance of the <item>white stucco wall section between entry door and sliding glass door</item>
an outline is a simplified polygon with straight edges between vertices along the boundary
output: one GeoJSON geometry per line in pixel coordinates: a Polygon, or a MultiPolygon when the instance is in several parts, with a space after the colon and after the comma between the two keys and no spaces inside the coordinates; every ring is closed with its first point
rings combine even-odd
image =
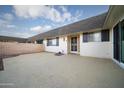
{"type": "MultiPolygon", "coordinates": [[[[98,58],[112,58],[112,42],[87,42],[83,43],[80,35],[80,55],[98,58]]],[[[111,38],[111,33],[110,33],[111,38]]]]}

